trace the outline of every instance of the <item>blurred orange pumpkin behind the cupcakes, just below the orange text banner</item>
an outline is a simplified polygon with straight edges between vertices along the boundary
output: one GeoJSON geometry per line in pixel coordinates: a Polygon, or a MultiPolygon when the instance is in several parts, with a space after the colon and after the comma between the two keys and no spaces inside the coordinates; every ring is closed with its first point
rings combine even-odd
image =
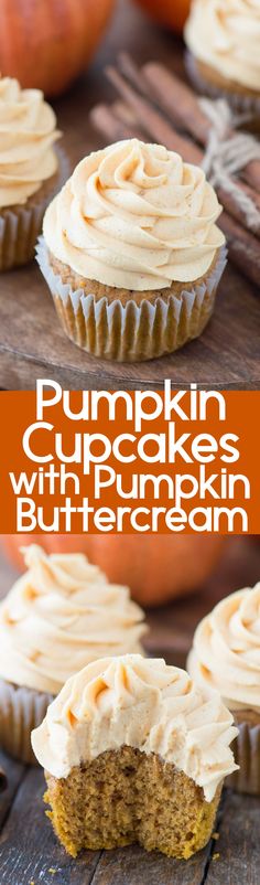
{"type": "Polygon", "coordinates": [[[39,543],[47,553],[86,553],[110,580],[127,584],[142,605],[156,606],[199,589],[213,571],[224,539],[218,535],[2,535],[12,562],[23,568],[20,547],[39,543]]]}

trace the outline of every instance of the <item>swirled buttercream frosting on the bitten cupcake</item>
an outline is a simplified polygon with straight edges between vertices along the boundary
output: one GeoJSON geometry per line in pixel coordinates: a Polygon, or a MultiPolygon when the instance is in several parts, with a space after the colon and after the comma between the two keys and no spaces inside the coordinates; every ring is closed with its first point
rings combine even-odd
{"type": "Polygon", "coordinates": [[[184,670],[127,654],[89,664],[68,680],[32,733],[41,765],[57,778],[127,745],[173,763],[210,801],[235,770],[237,735],[220,695],[194,686],[184,670]]]}

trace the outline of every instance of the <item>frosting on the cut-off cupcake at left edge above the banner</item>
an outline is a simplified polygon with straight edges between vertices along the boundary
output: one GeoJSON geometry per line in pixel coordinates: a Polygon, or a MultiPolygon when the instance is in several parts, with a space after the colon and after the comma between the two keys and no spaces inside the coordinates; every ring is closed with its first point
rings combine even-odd
{"type": "Polygon", "coordinates": [[[26,202],[57,169],[56,117],[40,89],[0,78],[0,209],[26,202]]]}

